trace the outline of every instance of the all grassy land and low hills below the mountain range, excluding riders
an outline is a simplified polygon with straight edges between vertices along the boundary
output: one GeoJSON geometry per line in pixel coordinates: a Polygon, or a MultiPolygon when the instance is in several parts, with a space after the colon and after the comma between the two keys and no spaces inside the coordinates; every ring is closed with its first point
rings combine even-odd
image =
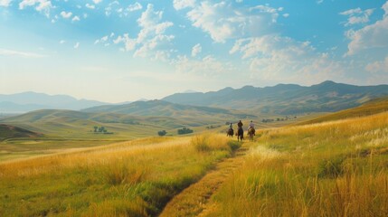
{"type": "Polygon", "coordinates": [[[387,102],[291,116],[151,100],[5,117],[0,215],[384,216],[387,102]],[[226,137],[239,119],[254,121],[252,142],[226,137]]]}

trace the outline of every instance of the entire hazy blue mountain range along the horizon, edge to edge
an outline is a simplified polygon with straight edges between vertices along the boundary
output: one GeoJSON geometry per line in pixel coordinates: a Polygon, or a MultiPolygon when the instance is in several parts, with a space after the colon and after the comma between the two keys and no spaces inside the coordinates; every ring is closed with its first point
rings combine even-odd
{"type": "Polygon", "coordinates": [[[66,95],[50,96],[24,92],[0,94],[0,113],[24,113],[37,109],[72,109],[84,112],[114,112],[136,116],[193,117],[225,114],[293,115],[309,112],[333,112],[354,108],[370,99],[388,95],[388,85],[355,86],[330,80],[309,87],[278,84],[273,87],[175,93],[161,100],[109,104],[66,95]],[[230,111],[230,110],[234,111],[230,111]],[[244,110],[237,112],[236,110],[244,110]],[[248,111],[248,112],[247,112],[248,111]],[[232,112],[232,113],[231,113],[232,112]]]}

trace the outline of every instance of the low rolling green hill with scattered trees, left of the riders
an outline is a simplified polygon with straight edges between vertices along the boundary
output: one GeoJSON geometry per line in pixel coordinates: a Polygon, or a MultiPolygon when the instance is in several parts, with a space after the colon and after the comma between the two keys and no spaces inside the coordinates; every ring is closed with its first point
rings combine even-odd
{"type": "MultiPolygon", "coordinates": [[[[207,108],[205,108],[207,109],[207,108]]],[[[222,109],[219,109],[222,111],[222,109]]],[[[182,109],[179,115],[135,116],[114,112],[94,113],[73,110],[44,109],[0,120],[0,123],[43,132],[48,137],[63,139],[128,139],[156,136],[156,132],[165,129],[175,135],[178,128],[190,127],[195,132],[205,130],[206,126],[220,126],[226,121],[240,118],[232,113],[217,113],[209,109],[208,113],[182,109]],[[211,115],[212,114],[212,115],[211,115]],[[94,127],[105,127],[107,135],[96,135],[94,127]]]]}

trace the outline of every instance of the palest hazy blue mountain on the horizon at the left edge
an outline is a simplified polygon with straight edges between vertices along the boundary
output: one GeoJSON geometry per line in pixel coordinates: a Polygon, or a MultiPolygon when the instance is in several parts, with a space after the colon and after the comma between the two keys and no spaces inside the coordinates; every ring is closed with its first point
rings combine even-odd
{"type": "Polygon", "coordinates": [[[23,92],[0,94],[0,113],[24,113],[36,109],[85,109],[108,103],[87,99],[75,99],[66,95],[23,92]]]}

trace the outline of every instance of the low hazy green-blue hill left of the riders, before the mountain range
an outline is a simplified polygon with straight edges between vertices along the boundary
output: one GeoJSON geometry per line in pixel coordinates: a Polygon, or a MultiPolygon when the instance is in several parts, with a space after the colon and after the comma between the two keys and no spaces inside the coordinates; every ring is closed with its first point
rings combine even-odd
{"type": "Polygon", "coordinates": [[[134,116],[165,116],[174,118],[184,117],[239,117],[247,118],[246,114],[228,109],[210,107],[180,105],[163,100],[136,101],[125,105],[105,105],[90,109],[82,109],[83,112],[103,112],[130,114],[134,116]]]}

